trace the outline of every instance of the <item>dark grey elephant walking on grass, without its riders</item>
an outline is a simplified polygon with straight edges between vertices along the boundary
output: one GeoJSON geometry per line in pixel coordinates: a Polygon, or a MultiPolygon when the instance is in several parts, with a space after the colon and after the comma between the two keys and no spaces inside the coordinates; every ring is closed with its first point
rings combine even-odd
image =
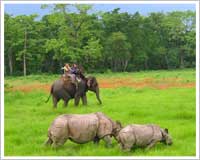
{"type": "Polygon", "coordinates": [[[75,99],[75,106],[78,106],[80,99],[82,100],[83,105],[87,105],[86,92],[90,90],[96,94],[96,98],[99,101],[99,104],[102,104],[99,96],[99,85],[95,77],[83,76],[77,85],[78,86],[76,88],[76,85],[70,81],[70,77],[61,77],[52,84],[50,95],[46,102],[48,102],[52,95],[54,108],[57,107],[57,103],[60,99],[64,101],[64,106],[67,106],[69,100],[72,98],[75,99]]]}

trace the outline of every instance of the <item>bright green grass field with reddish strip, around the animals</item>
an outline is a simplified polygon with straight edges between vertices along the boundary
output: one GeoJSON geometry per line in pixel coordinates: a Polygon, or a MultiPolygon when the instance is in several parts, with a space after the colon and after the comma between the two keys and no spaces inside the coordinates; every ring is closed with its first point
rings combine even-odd
{"type": "Polygon", "coordinates": [[[71,100],[67,108],[60,102],[57,109],[53,109],[51,101],[44,101],[49,95],[48,86],[59,75],[6,77],[5,156],[195,156],[195,70],[95,76],[101,86],[103,105],[98,105],[95,95],[88,92],[88,106],[74,107],[71,100]],[[43,146],[47,129],[58,115],[97,111],[120,120],[124,126],[159,124],[169,129],[174,143],[172,146],[159,143],[149,151],[137,148],[128,153],[121,151],[114,139],[112,148],[106,148],[103,141],[98,146],[92,142],[81,145],[67,141],[57,150],[43,146]]]}

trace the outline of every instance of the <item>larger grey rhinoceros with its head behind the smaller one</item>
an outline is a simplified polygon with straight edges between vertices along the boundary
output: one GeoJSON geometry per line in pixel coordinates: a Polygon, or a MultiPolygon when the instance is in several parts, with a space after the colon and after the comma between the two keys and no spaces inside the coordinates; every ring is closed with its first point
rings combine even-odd
{"type": "Polygon", "coordinates": [[[100,139],[111,145],[111,137],[121,129],[121,123],[113,121],[101,112],[91,114],[64,114],[58,116],[48,129],[46,145],[54,148],[67,139],[75,143],[98,143],[100,139]]]}

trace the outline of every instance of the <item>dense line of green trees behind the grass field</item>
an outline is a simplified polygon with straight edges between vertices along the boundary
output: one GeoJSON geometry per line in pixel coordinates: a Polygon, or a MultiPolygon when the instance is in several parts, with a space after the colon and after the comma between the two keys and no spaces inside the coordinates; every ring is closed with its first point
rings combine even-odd
{"type": "Polygon", "coordinates": [[[61,73],[65,63],[87,72],[195,67],[195,12],[143,16],[93,12],[92,5],[56,4],[51,13],[5,13],[5,75],[61,73]],[[70,11],[70,8],[74,11],[70,11]]]}

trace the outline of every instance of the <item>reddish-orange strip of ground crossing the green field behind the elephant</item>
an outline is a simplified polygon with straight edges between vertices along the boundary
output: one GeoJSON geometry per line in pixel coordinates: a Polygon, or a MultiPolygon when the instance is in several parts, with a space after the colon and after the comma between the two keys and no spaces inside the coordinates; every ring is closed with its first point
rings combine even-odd
{"type": "MultiPolygon", "coordinates": [[[[172,87],[177,88],[193,88],[195,82],[182,82],[179,78],[144,78],[141,80],[134,80],[132,78],[118,78],[118,79],[99,79],[100,88],[119,88],[119,87],[131,87],[131,88],[154,88],[154,89],[168,89],[172,87]]],[[[24,86],[17,86],[12,88],[5,88],[6,91],[22,91],[30,92],[33,90],[43,90],[50,92],[51,84],[28,84],[24,86]]]]}

